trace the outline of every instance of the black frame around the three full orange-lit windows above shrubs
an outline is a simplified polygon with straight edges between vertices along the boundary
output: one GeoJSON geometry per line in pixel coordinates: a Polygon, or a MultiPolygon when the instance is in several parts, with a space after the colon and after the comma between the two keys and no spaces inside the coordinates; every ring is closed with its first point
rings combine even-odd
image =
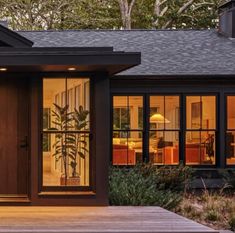
{"type": "MultiPolygon", "coordinates": [[[[113,135],[113,97],[114,96],[143,96],[143,113],[144,116],[148,116],[149,115],[149,107],[150,107],[150,96],[179,96],[179,113],[180,113],[180,130],[179,130],[179,162],[182,163],[183,165],[186,165],[186,157],[185,157],[185,133],[186,133],[186,96],[215,96],[215,114],[216,114],[216,119],[215,119],[215,139],[217,141],[220,140],[220,95],[222,93],[219,91],[206,91],[206,90],[202,90],[201,92],[189,92],[189,91],[181,91],[181,92],[174,92],[174,90],[172,91],[141,91],[141,92],[126,92],[126,91],[112,91],[110,96],[111,96],[111,121],[110,121],[110,163],[112,164],[112,157],[113,157],[113,142],[112,142],[112,135],[113,135]]],[[[234,94],[235,95],[235,94],[234,94]]],[[[225,118],[226,120],[226,118],[225,118]]],[[[148,138],[149,138],[149,133],[148,130],[149,129],[149,122],[148,122],[148,117],[144,117],[143,119],[143,162],[149,162],[149,142],[148,142],[148,138]]],[[[225,143],[225,139],[224,142],[225,143]]],[[[220,143],[215,143],[215,164],[213,165],[188,165],[190,167],[193,167],[195,169],[207,169],[207,168],[211,168],[211,169],[215,169],[217,167],[219,167],[221,165],[221,161],[219,158],[220,155],[220,143]]],[[[223,156],[224,160],[226,161],[225,156],[223,156]]],[[[118,165],[116,165],[118,166],[118,165]]],[[[122,165],[119,165],[122,166],[122,165]]],[[[157,164],[155,166],[164,166],[161,164],[157,164]]],[[[177,166],[175,164],[172,165],[167,165],[167,166],[177,166]]],[[[128,166],[127,166],[128,167],[128,166]]],[[[231,166],[230,166],[231,167],[231,166]]],[[[235,166],[232,166],[235,167],[235,166]]]]}

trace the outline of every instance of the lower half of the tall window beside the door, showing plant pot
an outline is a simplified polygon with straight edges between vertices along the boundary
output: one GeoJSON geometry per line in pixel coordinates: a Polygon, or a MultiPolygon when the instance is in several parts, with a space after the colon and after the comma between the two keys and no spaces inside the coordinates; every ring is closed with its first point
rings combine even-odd
{"type": "Polygon", "coordinates": [[[43,186],[89,185],[89,134],[43,134],[43,186]]]}

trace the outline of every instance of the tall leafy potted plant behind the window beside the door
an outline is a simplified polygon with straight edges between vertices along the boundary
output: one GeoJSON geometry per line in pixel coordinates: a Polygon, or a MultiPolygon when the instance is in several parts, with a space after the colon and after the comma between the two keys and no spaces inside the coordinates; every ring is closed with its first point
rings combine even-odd
{"type": "Polygon", "coordinates": [[[79,185],[80,176],[77,173],[77,158],[85,158],[85,152],[87,142],[84,135],[80,133],[63,133],[64,131],[79,131],[85,128],[88,124],[87,116],[88,111],[83,110],[83,107],[80,106],[79,109],[74,109],[74,112],[68,112],[69,106],[60,107],[55,104],[55,110],[52,111],[52,116],[54,120],[52,123],[55,124],[53,130],[59,131],[55,135],[55,143],[53,148],[55,153],[53,156],[56,161],[61,160],[63,164],[63,173],[60,178],[61,185],[79,185]],[[69,167],[71,167],[71,175],[69,173],[69,167]]]}

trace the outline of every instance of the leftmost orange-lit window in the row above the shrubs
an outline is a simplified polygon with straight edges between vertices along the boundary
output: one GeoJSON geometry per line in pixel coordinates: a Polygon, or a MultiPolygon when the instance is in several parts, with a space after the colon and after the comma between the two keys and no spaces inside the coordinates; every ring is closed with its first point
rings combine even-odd
{"type": "Polygon", "coordinates": [[[113,97],[113,164],[135,165],[143,156],[143,97],[113,97]]]}

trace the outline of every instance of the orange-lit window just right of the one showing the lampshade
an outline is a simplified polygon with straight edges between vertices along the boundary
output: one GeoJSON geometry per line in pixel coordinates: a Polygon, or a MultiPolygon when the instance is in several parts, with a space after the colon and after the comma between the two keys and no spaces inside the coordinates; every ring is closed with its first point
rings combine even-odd
{"type": "Polygon", "coordinates": [[[186,96],[185,159],[187,165],[214,165],[216,97],[186,96]]]}

